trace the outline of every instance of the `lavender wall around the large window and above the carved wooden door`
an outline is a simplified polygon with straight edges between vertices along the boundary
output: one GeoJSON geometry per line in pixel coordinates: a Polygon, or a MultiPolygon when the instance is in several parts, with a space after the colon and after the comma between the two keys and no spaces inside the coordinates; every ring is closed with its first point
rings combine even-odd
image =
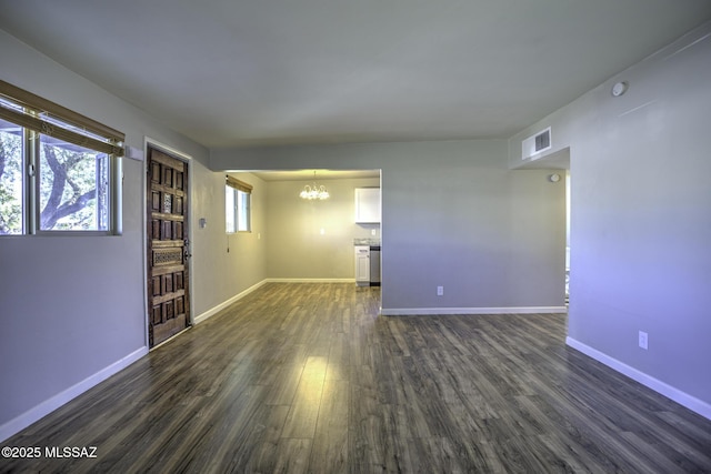
{"type": "MultiPolygon", "coordinates": [[[[123,131],[131,147],[148,135],[179,149],[207,172],[204,148],[3,31],[0,51],[2,80],[123,131]]],[[[143,170],[123,160],[122,235],[0,239],[0,440],[147,352],[143,170]]]]}

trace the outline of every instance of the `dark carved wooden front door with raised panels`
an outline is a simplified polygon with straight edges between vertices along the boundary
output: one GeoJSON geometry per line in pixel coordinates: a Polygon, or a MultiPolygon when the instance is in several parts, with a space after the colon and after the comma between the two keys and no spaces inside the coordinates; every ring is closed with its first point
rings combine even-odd
{"type": "Polygon", "coordinates": [[[148,149],[148,339],[153,347],[190,325],[188,163],[148,149]]]}

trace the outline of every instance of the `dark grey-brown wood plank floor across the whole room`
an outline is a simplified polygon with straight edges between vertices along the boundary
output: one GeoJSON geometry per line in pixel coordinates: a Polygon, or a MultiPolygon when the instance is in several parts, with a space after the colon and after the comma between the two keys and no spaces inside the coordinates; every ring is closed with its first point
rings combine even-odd
{"type": "Polygon", "coordinates": [[[6,446],[2,472],[711,472],[711,421],[567,347],[565,316],[378,316],[268,284],[6,446]]]}

